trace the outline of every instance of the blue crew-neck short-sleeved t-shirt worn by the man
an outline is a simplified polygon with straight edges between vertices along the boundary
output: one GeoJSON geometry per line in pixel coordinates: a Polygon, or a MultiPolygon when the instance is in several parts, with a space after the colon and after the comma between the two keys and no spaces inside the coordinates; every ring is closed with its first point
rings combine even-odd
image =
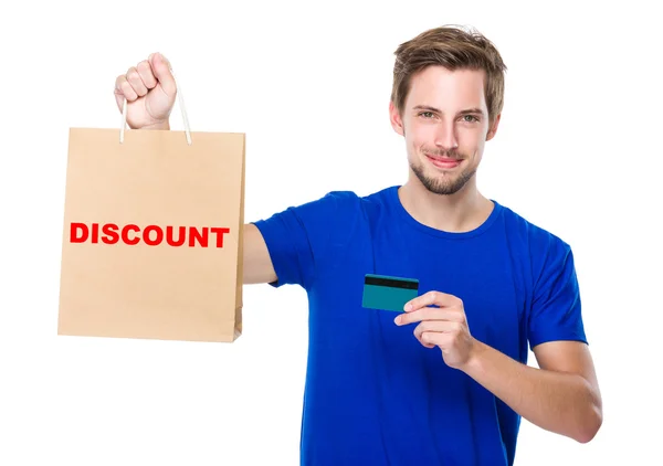
{"type": "Polygon", "coordinates": [[[330,192],[254,222],[277,283],[303,287],[309,335],[301,464],[512,465],[520,417],[424,348],[415,325],[361,306],[366,274],[463,300],[471,333],[526,363],[528,345],[586,341],[568,244],[494,202],[466,233],[425,226],[398,187],[330,192]]]}

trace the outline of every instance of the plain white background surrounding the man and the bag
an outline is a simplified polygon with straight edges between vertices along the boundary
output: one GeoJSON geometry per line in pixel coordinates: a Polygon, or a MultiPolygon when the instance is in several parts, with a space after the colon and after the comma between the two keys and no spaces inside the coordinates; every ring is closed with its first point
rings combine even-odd
{"type": "Polygon", "coordinates": [[[245,287],[232,345],[56,336],[67,130],[119,128],[115,76],[160,51],[193,130],[248,134],[246,220],[330,190],[369,193],[407,176],[387,113],[392,53],[444,23],[476,27],[508,66],[480,189],[573,246],[604,402],[586,445],[525,421],[516,465],[660,460],[655,2],[365,4],[3,8],[1,465],[297,464],[302,290],[245,287]]]}

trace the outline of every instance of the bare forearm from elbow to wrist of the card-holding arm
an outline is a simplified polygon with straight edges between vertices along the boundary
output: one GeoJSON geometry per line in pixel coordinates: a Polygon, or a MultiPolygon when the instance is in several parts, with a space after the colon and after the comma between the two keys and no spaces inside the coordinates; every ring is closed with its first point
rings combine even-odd
{"type": "Polygon", "coordinates": [[[476,342],[473,356],[461,369],[547,431],[585,443],[601,424],[599,396],[580,375],[522,364],[482,342],[476,342]]]}

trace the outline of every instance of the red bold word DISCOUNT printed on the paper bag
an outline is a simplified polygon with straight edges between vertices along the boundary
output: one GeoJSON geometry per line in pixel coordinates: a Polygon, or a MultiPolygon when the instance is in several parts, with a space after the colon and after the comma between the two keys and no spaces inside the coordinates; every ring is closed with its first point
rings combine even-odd
{"type": "Polygon", "coordinates": [[[220,226],[159,226],[140,227],[135,224],[119,226],[115,223],[71,224],[70,241],[72,243],[104,243],[148,246],[187,246],[187,247],[223,247],[223,235],[230,229],[220,226]]]}

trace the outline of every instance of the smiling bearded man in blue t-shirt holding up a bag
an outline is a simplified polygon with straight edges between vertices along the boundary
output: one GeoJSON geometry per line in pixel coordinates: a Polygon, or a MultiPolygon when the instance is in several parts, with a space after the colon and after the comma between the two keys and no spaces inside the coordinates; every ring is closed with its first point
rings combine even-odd
{"type": "MultiPolygon", "coordinates": [[[[601,396],[568,244],[483,197],[505,65],[478,33],[396,51],[390,118],[410,173],[245,225],[244,283],[308,294],[304,465],[512,465],[520,416],[589,442],[601,396]],[[366,274],[412,277],[403,313],[364,308],[366,274]],[[526,364],[528,345],[540,369],[526,364]]],[[[133,128],[169,129],[164,56],[118,76],[133,128]]]]}

